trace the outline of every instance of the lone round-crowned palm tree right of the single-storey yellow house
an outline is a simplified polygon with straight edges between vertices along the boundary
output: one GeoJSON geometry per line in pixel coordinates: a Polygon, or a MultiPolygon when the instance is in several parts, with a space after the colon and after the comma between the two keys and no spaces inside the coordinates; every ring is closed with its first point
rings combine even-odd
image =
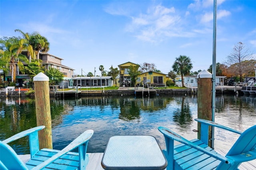
{"type": "Polygon", "coordinates": [[[190,70],[193,68],[190,57],[187,57],[186,55],[180,55],[180,57],[176,57],[176,60],[174,61],[174,64],[172,65],[173,71],[175,71],[177,74],[181,75],[181,82],[182,87],[184,86],[184,75],[188,75],[190,73],[190,70]]]}

